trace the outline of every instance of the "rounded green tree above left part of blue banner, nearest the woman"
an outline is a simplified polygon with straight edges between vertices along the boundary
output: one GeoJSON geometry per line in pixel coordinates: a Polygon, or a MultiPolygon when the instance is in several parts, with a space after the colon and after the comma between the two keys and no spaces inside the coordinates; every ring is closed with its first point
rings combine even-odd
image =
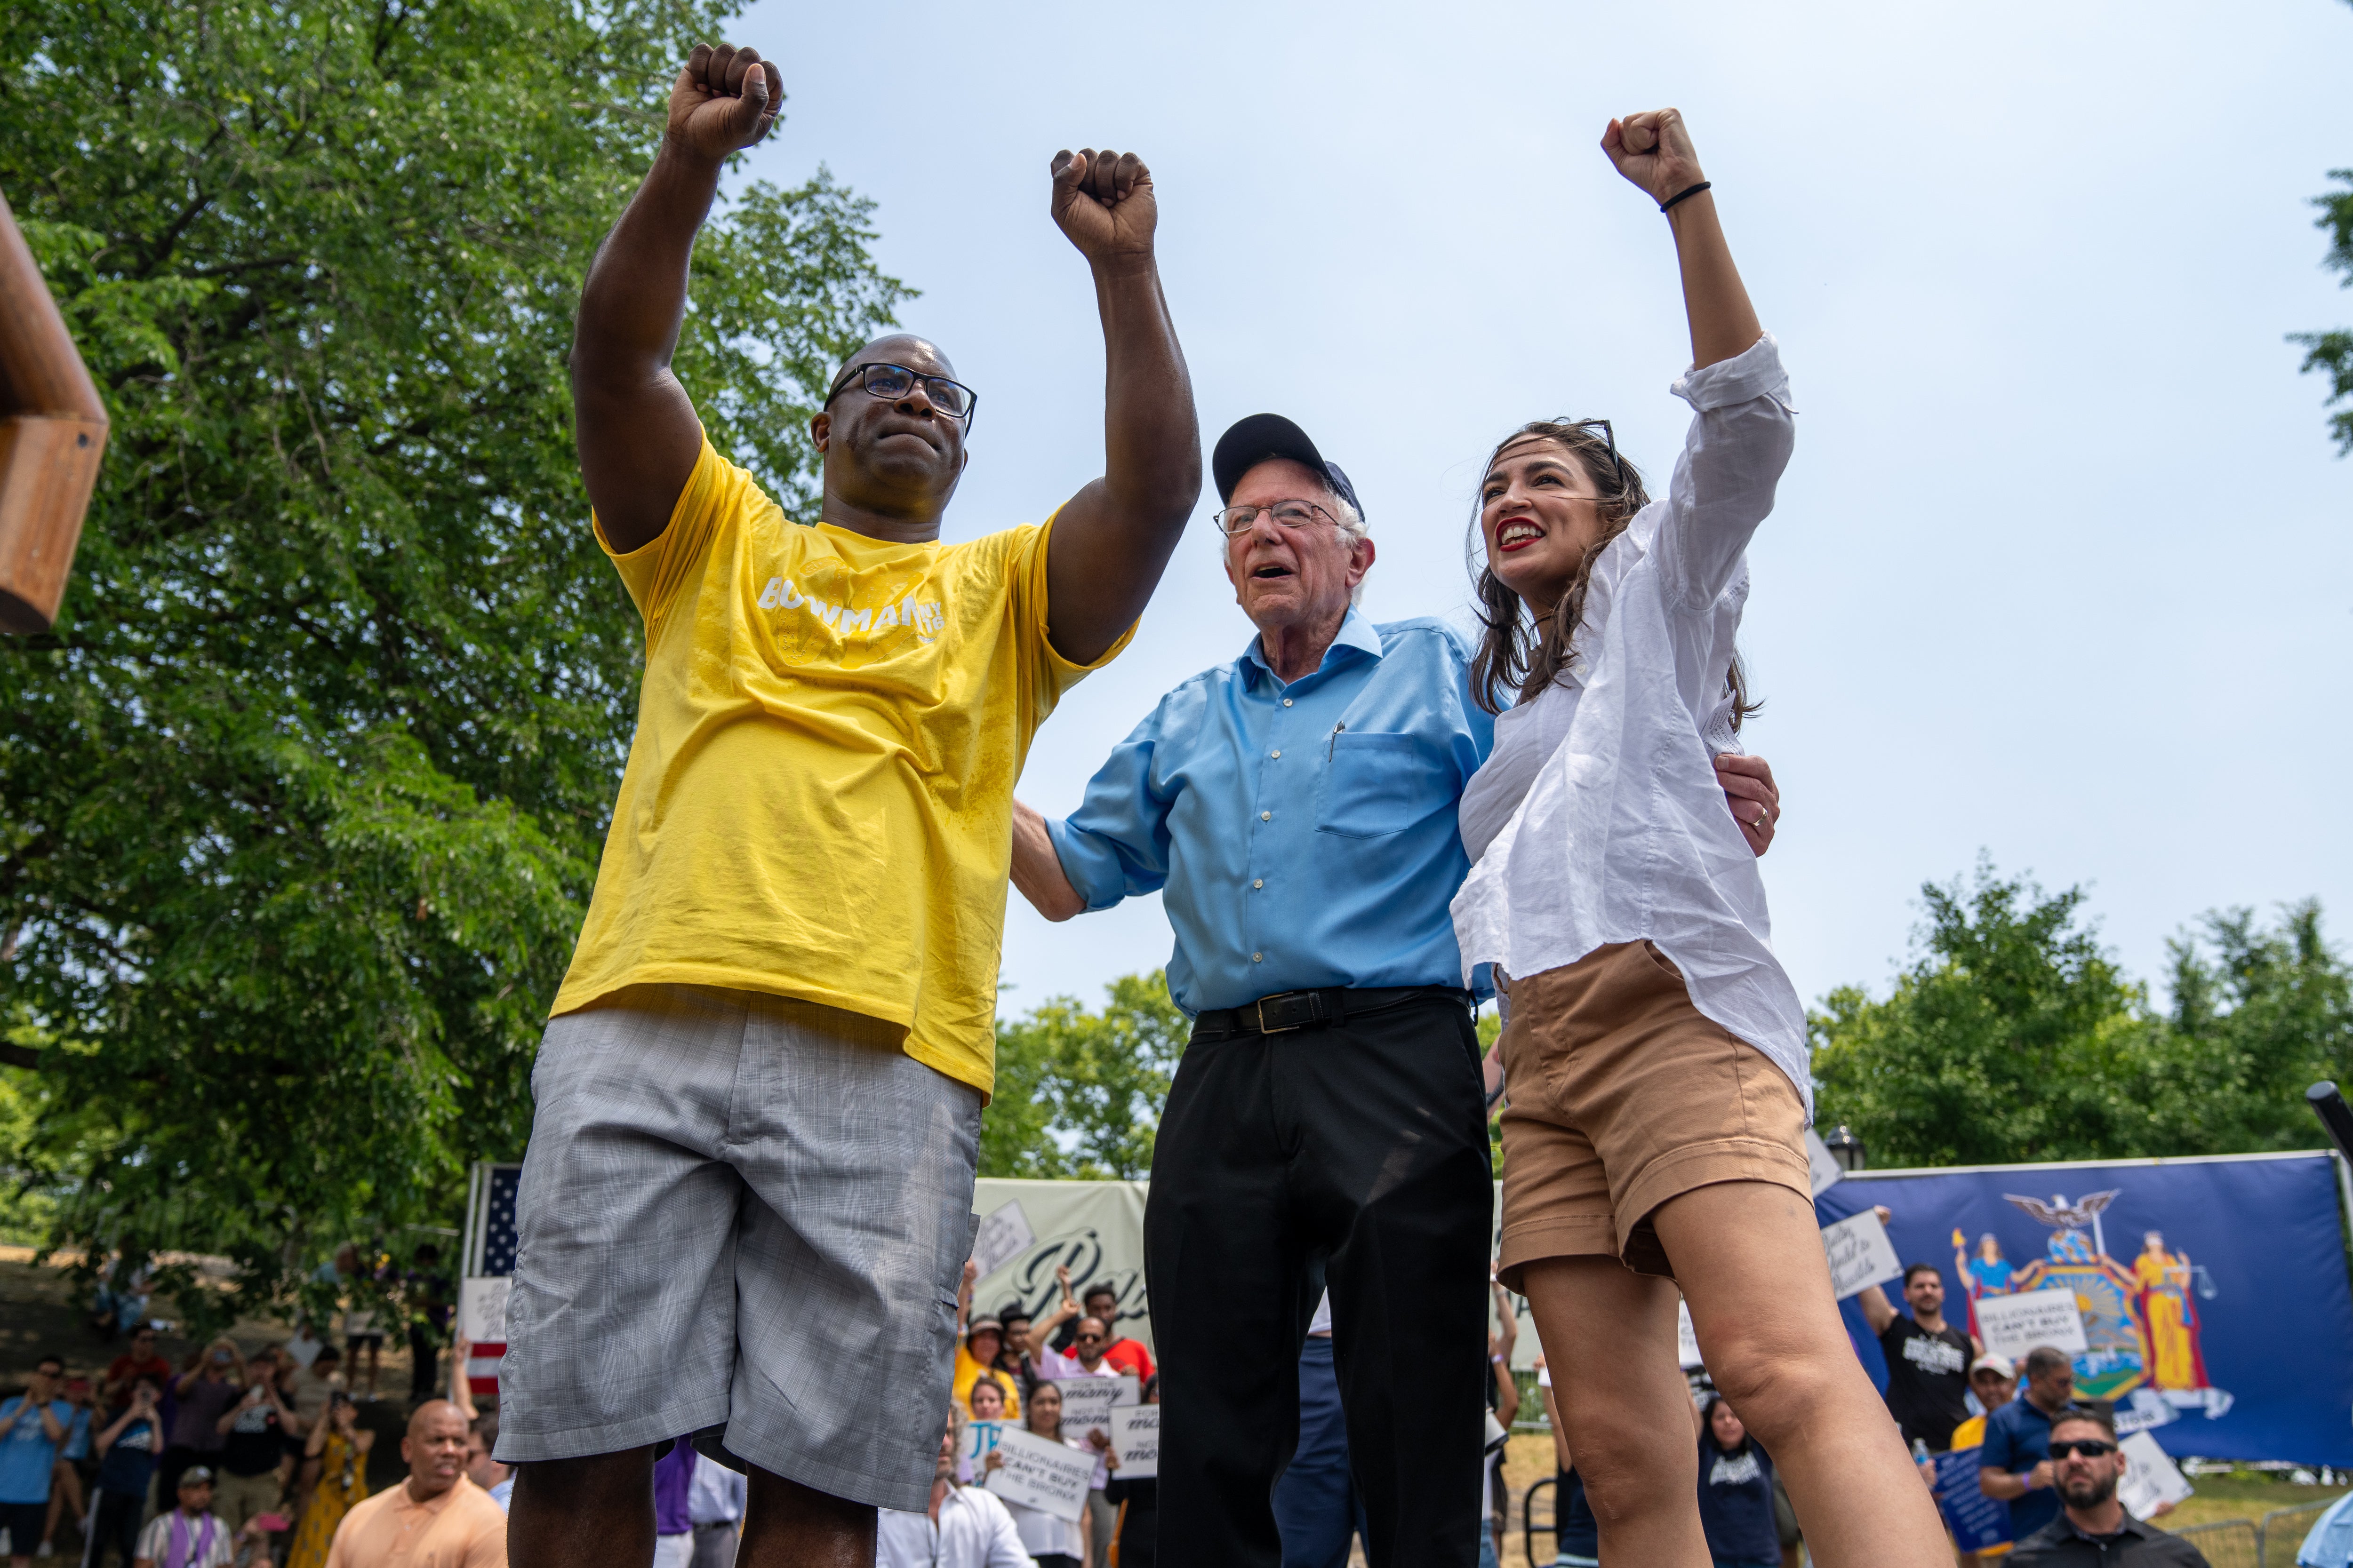
{"type": "Polygon", "coordinates": [[[2137,1152],[2125,1093],[2148,1025],[2141,992],[2078,924],[2085,893],[2045,893],[1981,863],[1974,886],[1920,889],[1918,961],[1873,1001],[1840,987],[1812,1013],[1817,1117],[1880,1166],[2137,1152]]]}

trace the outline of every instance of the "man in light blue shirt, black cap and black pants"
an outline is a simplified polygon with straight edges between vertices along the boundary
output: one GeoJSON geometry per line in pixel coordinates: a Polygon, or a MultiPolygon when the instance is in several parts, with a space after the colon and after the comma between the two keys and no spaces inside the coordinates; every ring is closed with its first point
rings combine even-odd
{"type": "MultiPolygon", "coordinates": [[[[1012,879],[1047,919],[1162,891],[1176,931],[1167,980],[1193,1039],[1144,1213],[1160,1552],[1280,1561],[1271,1493],[1329,1286],[1367,1554],[1468,1568],[1494,1178],[1447,905],[1494,717],[1464,632],[1358,614],[1374,543],[1306,430],[1254,414],[1212,470],[1257,637],[1169,691],[1068,818],[1014,806],[1012,879]]],[[[1769,769],[1727,764],[1734,816],[1769,832],[1769,769]]]]}

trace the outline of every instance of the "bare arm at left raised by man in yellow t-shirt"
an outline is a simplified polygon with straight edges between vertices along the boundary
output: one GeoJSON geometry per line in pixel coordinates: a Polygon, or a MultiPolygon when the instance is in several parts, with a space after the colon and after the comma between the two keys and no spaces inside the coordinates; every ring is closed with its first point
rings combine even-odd
{"type": "Polygon", "coordinates": [[[572,433],[588,503],[614,550],[661,536],[701,454],[704,425],[671,374],[687,317],[687,261],[720,167],[767,136],[781,99],[784,75],[758,49],[694,45],[671,85],[654,167],[588,263],[572,336],[572,433]]]}

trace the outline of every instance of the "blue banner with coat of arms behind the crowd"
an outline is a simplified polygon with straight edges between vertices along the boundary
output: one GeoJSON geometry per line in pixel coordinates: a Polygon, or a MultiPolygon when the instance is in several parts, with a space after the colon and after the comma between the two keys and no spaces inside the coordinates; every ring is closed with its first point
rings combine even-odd
{"type": "MultiPolygon", "coordinates": [[[[2353,1288],[2327,1154],[1859,1173],[1814,1208],[1828,1225],[1873,1204],[1972,1333],[1984,1295],[2073,1291],[2089,1340],[2075,1392],[2115,1401],[2120,1429],[2174,1455],[2353,1465],[2353,1288]]],[[[1885,1387],[1852,1298],[1845,1314],[1885,1387]]]]}

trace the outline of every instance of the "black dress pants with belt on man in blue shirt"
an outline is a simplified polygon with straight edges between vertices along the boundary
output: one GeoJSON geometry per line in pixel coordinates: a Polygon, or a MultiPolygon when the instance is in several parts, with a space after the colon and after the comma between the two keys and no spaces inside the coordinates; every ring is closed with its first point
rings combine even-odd
{"type": "MultiPolygon", "coordinates": [[[[1445,992],[1280,1034],[1195,1030],[1144,1206],[1160,1563],[1278,1568],[1299,1349],[1325,1286],[1374,1568],[1471,1568],[1494,1180],[1445,992]]],[[[1381,992],[1351,992],[1379,1001],[1381,992]]]]}

